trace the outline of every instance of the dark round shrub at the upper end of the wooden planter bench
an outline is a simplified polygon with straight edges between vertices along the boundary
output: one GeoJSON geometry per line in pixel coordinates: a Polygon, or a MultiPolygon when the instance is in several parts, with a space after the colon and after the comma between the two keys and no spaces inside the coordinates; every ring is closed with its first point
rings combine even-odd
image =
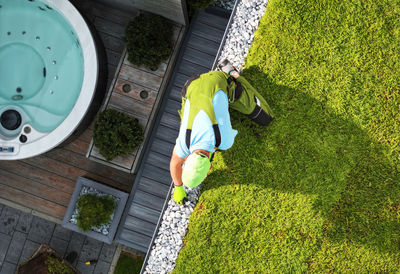
{"type": "Polygon", "coordinates": [[[172,24],[164,17],[140,14],[125,29],[128,60],[137,66],[157,69],[172,52],[172,24]]]}

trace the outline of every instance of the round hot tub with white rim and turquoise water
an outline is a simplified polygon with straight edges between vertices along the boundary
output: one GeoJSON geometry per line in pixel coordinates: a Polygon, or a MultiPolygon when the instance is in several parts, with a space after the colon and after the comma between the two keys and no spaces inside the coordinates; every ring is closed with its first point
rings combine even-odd
{"type": "Polygon", "coordinates": [[[92,34],[67,0],[0,0],[0,159],[44,153],[78,127],[95,94],[92,34]]]}

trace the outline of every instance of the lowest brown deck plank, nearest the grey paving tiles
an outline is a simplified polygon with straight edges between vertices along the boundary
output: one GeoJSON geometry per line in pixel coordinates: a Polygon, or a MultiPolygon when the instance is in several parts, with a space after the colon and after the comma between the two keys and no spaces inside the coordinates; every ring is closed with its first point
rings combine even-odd
{"type": "Polygon", "coordinates": [[[34,209],[59,220],[64,218],[64,214],[67,211],[67,208],[64,206],[2,184],[0,184],[0,197],[5,200],[10,200],[12,197],[12,201],[17,204],[34,209]]]}

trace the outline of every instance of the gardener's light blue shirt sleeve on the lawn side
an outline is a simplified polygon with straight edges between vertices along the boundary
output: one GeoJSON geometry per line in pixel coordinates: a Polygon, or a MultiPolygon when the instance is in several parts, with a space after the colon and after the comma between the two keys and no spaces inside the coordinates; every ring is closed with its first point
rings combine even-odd
{"type": "Polygon", "coordinates": [[[221,144],[219,149],[226,150],[232,147],[238,131],[232,128],[231,117],[229,115],[228,96],[223,90],[219,90],[214,95],[213,106],[219,131],[221,133],[221,144]]]}

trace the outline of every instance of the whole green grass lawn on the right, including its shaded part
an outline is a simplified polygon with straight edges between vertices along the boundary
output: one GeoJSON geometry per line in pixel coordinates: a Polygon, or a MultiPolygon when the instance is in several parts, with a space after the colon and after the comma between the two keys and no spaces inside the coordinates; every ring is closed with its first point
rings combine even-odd
{"type": "Polygon", "coordinates": [[[400,2],[270,0],[176,273],[399,272],[400,2]]]}

